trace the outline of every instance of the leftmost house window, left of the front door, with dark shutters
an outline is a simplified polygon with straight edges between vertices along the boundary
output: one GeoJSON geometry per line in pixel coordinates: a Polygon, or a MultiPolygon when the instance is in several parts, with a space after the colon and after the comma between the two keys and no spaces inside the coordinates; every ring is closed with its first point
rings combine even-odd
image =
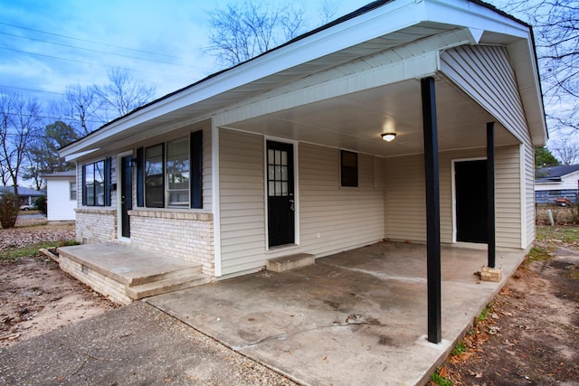
{"type": "Polygon", "coordinates": [[[82,166],[82,204],[86,206],[110,205],[109,180],[109,158],[82,166]]]}

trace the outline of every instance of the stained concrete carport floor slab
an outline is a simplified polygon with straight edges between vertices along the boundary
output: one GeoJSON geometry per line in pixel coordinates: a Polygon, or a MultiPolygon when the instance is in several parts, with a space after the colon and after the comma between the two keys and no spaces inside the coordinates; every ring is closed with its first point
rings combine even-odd
{"type": "Polygon", "coordinates": [[[147,302],[294,381],[423,384],[523,258],[498,252],[502,281],[482,282],[486,251],[442,249],[441,344],[425,337],[423,245],[378,243],[147,302]]]}

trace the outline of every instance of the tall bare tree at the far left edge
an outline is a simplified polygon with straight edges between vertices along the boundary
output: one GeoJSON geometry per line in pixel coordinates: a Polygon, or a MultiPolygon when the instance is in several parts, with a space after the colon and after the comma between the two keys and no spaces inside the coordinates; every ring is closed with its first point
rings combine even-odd
{"type": "Polygon", "coordinates": [[[0,160],[12,180],[15,195],[18,195],[18,177],[24,168],[28,146],[41,124],[40,117],[38,101],[0,90],[0,160]]]}

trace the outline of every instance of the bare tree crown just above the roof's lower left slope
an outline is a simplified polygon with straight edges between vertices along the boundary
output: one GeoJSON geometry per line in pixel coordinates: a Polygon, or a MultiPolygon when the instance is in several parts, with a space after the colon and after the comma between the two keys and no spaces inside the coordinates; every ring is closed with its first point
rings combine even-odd
{"type": "Polygon", "coordinates": [[[157,89],[142,80],[136,80],[128,70],[109,71],[109,83],[94,86],[100,100],[100,118],[109,121],[122,117],[155,98],[157,89]]]}

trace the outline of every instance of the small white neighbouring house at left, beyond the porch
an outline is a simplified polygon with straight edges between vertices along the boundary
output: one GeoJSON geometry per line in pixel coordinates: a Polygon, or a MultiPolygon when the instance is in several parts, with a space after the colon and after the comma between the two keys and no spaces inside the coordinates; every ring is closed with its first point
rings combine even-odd
{"type": "Polygon", "coordinates": [[[76,172],[43,175],[46,180],[46,217],[48,221],[74,221],[77,206],[76,172]]]}

